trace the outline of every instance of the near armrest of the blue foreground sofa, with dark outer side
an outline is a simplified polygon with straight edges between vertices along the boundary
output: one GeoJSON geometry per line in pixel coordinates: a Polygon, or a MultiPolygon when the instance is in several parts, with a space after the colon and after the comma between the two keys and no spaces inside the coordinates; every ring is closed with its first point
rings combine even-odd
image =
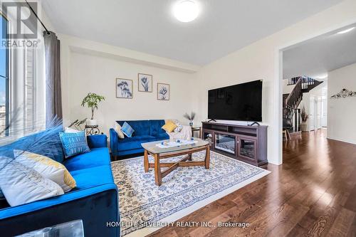
{"type": "Polygon", "coordinates": [[[85,236],[120,236],[120,227],[107,227],[108,221],[120,221],[117,200],[117,186],[103,184],[30,204],[1,209],[0,233],[1,236],[17,236],[58,223],[81,219],[85,236]]]}

